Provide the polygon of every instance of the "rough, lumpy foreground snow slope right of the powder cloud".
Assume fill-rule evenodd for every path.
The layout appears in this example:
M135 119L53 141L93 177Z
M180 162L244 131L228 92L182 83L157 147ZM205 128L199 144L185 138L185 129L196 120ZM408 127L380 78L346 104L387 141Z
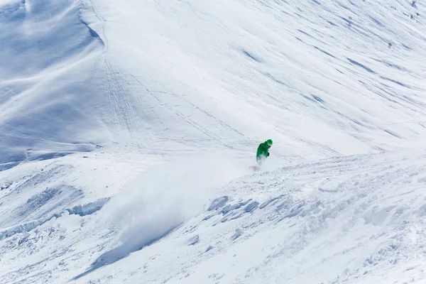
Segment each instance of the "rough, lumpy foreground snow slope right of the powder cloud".
M111 261L104 253L92 264L101 267L81 280L424 283L425 182L426 155L406 153L245 176L217 190L221 197L204 213L123 263L104 266ZM158 229L174 217L161 212L150 221ZM151 229L143 224L142 231ZM126 241L145 244L141 235Z

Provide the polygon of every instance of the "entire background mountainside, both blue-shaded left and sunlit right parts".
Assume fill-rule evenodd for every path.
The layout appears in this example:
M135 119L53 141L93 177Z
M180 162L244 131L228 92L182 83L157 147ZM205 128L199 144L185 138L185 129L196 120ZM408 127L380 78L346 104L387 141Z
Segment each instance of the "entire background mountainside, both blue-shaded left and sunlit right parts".
M274 138L276 157L313 158L425 135L422 4L1 3L1 168L97 145L241 158Z

